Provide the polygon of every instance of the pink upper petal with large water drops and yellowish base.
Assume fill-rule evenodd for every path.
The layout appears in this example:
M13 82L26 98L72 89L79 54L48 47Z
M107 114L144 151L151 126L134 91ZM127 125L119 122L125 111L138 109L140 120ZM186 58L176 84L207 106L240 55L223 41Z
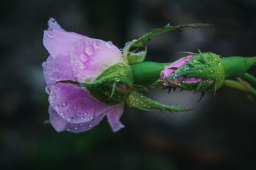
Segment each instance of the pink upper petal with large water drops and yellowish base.
M70 66L79 82L92 82L108 67L124 62L120 50L111 41L83 38L70 44Z

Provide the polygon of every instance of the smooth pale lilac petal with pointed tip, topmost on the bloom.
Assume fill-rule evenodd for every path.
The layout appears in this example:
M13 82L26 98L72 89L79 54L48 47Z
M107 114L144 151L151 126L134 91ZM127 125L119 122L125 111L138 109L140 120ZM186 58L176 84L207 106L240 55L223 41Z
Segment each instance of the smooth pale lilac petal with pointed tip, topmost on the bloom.
M48 25L48 29L44 31L43 43L53 58L58 54L68 55L70 53L70 42L86 38L86 36L75 32L67 32L61 29L54 18L48 21Z

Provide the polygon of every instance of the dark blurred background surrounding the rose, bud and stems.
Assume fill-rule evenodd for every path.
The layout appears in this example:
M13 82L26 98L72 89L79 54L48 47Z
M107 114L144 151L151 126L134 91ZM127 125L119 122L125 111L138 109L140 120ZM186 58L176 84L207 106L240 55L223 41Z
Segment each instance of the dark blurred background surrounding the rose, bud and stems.
M256 169L256 106L222 87L213 96L189 91L147 96L195 108L186 113L125 108L125 129L106 118L81 134L50 124L42 62L49 17L67 31L111 40L123 48L153 28L191 22L214 26L171 31L147 41L147 60L172 62L177 52L256 55L256 1L1 1L0 169ZM250 69L256 76L256 69Z

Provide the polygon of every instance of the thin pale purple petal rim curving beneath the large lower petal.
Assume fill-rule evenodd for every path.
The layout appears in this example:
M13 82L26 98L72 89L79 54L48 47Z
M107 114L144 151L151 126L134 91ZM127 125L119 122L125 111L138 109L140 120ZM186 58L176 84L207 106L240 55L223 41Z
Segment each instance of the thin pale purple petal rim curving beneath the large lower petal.
M54 127L57 132L70 131L75 133L89 131L90 129L95 127L95 125L99 124L102 118L104 118L104 116L106 115L106 113L101 113L98 117L95 117L90 122L73 124L60 117L58 113L52 109L51 105L49 106L49 114L52 127Z

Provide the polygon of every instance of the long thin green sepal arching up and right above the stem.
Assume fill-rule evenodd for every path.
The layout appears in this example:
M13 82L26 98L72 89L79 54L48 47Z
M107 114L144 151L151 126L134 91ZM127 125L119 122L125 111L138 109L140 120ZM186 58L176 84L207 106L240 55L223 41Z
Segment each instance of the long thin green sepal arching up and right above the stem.
M135 62L142 62L145 59L145 56L141 55L136 55L134 58L136 59L131 59L131 54L135 53L139 47L143 46L143 41L146 41L148 39L152 39L154 36L157 36L159 34L163 34L164 32L172 31L174 29L181 30L184 27L191 27L191 28L198 28L198 27L205 27L205 26L210 26L212 24L202 24L202 23L194 23L194 24L184 24L184 25L177 25L177 26L171 26L170 24L167 24L166 26L162 28L157 28L153 29L150 32L146 32L143 34L141 38L134 39L132 41L129 41L125 44L124 50L123 50L123 58L125 62L132 64ZM135 48L135 50L130 51L130 48ZM145 50L147 51L147 49ZM145 53L146 55L146 53ZM131 62L130 62L131 61Z

